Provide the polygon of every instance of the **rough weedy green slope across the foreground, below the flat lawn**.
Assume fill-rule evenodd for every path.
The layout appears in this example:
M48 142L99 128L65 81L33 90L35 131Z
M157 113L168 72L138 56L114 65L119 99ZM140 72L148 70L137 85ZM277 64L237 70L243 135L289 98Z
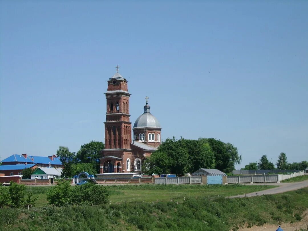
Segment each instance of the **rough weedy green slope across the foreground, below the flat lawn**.
M149 191L139 191L142 190ZM155 189L150 190L155 192ZM3 208L0 209L0 231L230 231L266 223L293 223L298 220L295 214L301 214L307 207L308 188L234 199L199 196L189 197L185 201L178 198L172 201L132 201L100 206L46 206L30 208L29 211Z

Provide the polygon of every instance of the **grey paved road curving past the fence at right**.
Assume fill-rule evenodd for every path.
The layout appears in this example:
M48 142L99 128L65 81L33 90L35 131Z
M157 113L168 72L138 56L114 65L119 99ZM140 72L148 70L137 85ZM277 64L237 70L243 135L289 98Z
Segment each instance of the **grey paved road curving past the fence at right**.
M276 193L294 191L300 188L308 187L308 180L301 181L301 182L295 182L295 183L273 183L273 184L254 184L254 185L279 185L279 187L270 188L270 189L266 189L266 190L258 191L258 192L251 192L251 193L247 193L243 195L229 196L228 198L245 197L245 196L250 197L250 196L256 196L256 195L261 196L264 194L276 194Z

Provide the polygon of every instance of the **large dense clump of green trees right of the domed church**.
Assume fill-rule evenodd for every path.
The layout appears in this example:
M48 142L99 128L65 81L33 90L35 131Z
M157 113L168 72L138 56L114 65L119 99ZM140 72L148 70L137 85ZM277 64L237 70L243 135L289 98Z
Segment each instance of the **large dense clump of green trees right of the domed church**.
M167 138L152 155L144 161L143 171L147 174L172 173L184 175L200 168L217 168L221 171L234 170L241 162L237 148L231 143L215 139L190 140Z

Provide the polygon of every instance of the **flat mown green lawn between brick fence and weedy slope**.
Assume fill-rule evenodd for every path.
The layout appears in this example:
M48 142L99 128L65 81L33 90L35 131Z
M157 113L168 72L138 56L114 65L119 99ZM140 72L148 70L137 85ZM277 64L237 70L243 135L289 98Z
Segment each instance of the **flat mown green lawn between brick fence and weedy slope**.
M46 192L52 186L26 186L26 192L32 192L38 197L36 206L48 204ZM78 187L78 186L74 186ZM110 192L109 200L112 203L125 201L170 201L170 199L184 199L200 196L235 196L249 192L261 191L276 186L269 185L112 185L103 186Z

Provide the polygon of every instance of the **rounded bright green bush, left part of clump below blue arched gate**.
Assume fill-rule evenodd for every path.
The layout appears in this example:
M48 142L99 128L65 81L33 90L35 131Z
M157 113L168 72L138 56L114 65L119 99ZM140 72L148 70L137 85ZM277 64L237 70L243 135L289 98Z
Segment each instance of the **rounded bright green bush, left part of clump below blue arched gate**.
M54 187L46 193L49 204L68 205L71 204L72 187L68 180L58 180Z

